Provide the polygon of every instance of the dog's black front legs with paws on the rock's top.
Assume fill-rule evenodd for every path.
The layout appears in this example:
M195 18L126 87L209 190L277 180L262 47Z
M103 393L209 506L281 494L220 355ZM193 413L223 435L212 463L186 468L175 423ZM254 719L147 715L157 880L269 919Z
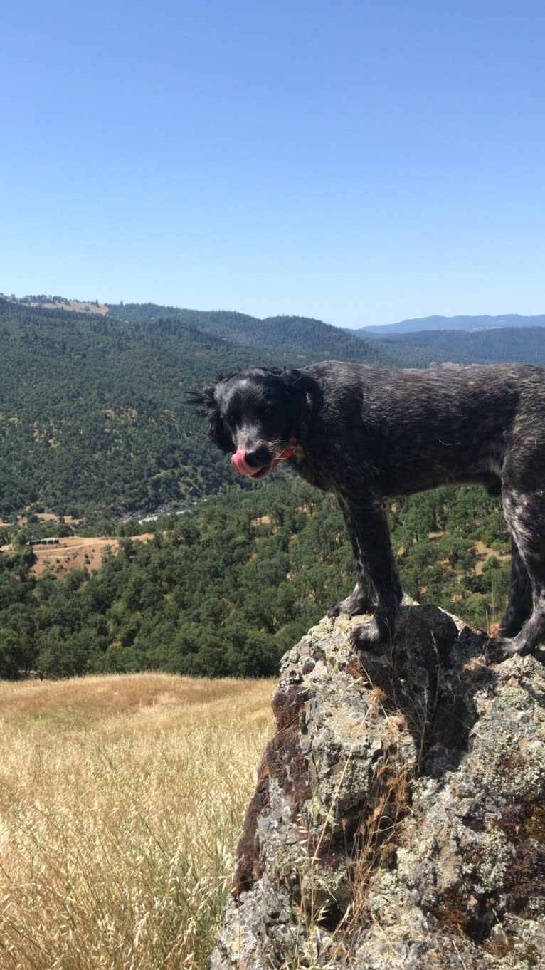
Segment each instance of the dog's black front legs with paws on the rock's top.
M374 617L353 630L352 639L362 648L389 643L400 615L402 593L383 503L373 496L358 500L343 497L338 503L350 535L358 582L347 599L332 607L330 616L368 612L369 590L374 587Z

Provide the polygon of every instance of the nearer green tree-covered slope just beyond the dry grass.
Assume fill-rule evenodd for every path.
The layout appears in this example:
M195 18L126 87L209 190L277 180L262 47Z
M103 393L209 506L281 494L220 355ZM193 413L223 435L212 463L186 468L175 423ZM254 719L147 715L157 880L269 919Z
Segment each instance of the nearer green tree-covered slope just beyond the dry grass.
M390 503L390 522L406 593L485 627L498 619L509 575L498 500L443 488ZM120 538L90 574L57 578L52 557L37 579L27 545L0 554L0 677L31 668L273 674L354 585L337 503L291 469L155 528L148 542Z

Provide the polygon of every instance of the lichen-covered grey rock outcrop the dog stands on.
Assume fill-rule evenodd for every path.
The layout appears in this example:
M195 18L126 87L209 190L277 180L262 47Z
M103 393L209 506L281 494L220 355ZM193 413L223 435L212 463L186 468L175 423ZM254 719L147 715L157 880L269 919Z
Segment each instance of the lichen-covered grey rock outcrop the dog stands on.
M213 970L545 968L545 651L401 612L392 651L339 617L283 658Z

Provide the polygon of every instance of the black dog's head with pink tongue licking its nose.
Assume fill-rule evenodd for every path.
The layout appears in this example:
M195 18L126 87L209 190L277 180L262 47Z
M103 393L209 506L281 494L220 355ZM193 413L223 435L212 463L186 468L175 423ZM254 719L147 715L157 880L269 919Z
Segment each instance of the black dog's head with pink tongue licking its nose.
M189 404L209 423L208 438L233 452L233 466L265 478L290 444L299 443L311 407L314 381L303 371L249 368L219 376Z

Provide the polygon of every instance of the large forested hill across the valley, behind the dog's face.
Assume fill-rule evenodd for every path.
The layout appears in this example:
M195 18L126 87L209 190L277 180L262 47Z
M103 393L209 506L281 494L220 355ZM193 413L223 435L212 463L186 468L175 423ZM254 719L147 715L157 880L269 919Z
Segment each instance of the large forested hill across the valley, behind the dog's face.
M324 341L312 349L313 328L303 329L297 353L287 337L258 351L225 339L221 319L241 314L192 314L191 321L182 319L187 311L169 316L168 308L153 308L164 315L123 307L121 320L0 300L0 515L38 502L61 514L116 521L202 498L236 476L205 444L203 423L185 405L189 390L256 362L364 361L369 346L373 361L390 360L380 347L340 331L337 346L332 339L330 350ZM197 326L205 317L206 333ZM252 318L243 319L251 335ZM296 324L290 326L295 340Z

